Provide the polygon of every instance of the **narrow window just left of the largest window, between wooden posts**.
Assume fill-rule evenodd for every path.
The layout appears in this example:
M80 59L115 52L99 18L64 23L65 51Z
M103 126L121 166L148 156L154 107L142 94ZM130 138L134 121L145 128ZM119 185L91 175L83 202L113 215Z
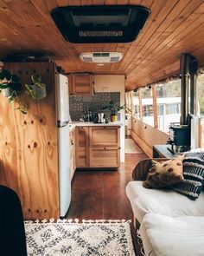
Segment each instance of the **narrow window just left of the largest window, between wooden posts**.
M143 110L143 122L154 126L154 110L153 110L153 98L152 89L142 90L142 110Z

